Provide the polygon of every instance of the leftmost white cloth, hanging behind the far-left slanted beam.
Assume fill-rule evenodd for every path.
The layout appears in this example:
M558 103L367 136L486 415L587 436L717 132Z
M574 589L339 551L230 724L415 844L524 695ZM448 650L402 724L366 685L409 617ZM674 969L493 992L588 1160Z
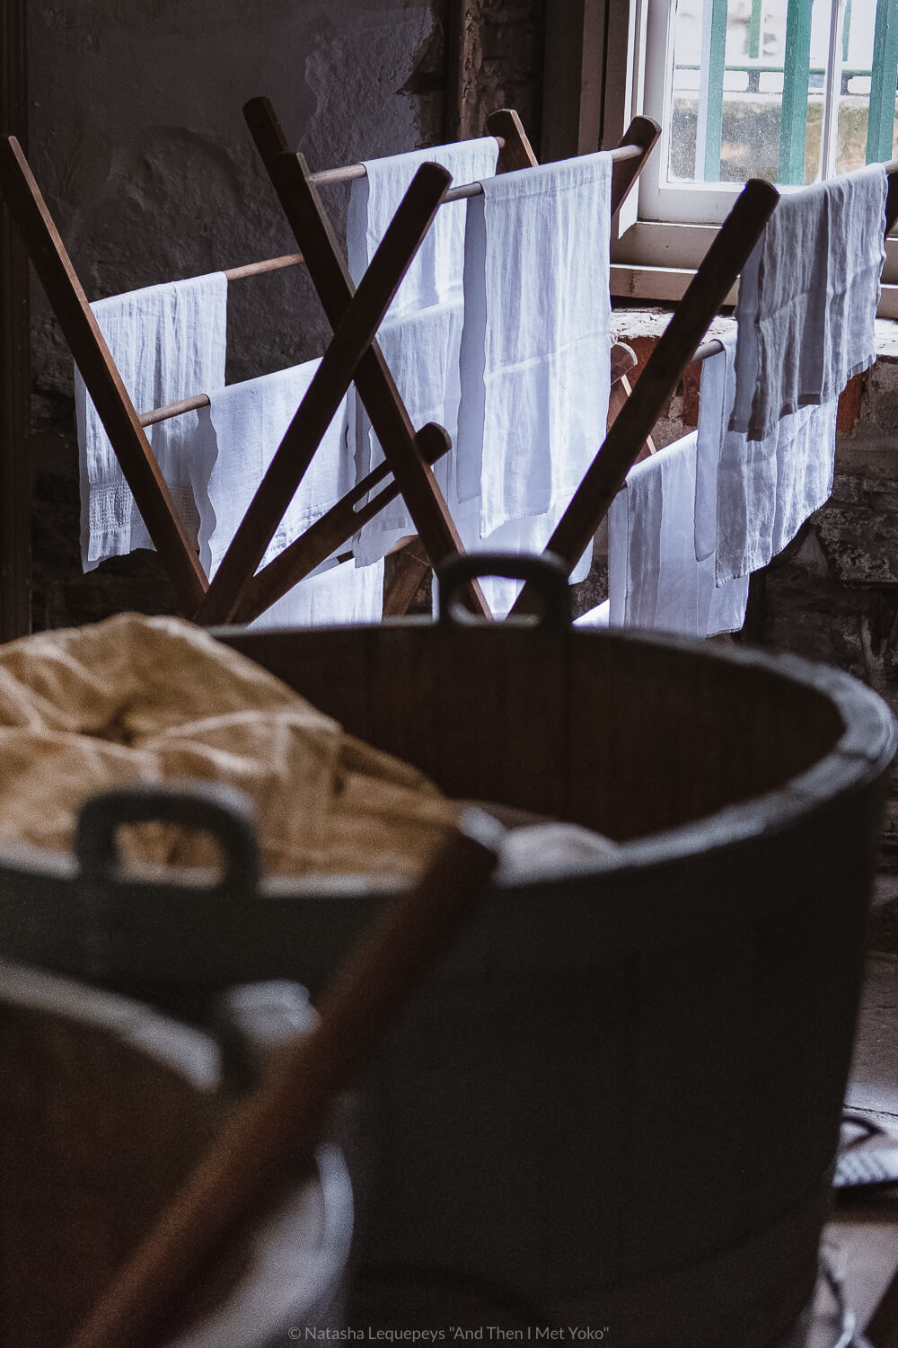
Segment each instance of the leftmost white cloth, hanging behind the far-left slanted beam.
M149 286L90 306L139 412L225 383L228 282L223 272ZM106 557L152 547L97 411L75 371L85 572ZM147 427L147 437L188 532L195 534L209 465L194 452L197 412Z

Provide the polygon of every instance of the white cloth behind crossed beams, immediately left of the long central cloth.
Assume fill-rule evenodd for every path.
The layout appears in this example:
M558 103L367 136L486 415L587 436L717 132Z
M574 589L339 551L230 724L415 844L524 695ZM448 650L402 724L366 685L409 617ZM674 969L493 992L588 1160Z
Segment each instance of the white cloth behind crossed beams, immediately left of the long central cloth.
M358 284L417 168L439 163L456 183L481 182L495 174L495 137L466 140L432 150L366 160L366 177L353 182L346 243L349 270ZM412 425L435 421L456 439L458 360L463 324L464 201L440 206L412 266L390 305L377 340L396 380ZM358 477L382 460L368 414L357 395L350 403L350 443ZM451 504L455 499L455 449L435 468ZM399 497L359 531L358 565L384 554L415 524Z

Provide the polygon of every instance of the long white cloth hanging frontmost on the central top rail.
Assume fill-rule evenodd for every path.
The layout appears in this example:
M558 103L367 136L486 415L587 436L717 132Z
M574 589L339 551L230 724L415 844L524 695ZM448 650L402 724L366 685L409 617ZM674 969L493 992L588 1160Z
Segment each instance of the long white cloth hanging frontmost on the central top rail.
M456 522L469 549L541 551L609 408L611 159L499 174L467 202ZM590 568L591 549L572 580ZM520 585L490 581L497 616Z

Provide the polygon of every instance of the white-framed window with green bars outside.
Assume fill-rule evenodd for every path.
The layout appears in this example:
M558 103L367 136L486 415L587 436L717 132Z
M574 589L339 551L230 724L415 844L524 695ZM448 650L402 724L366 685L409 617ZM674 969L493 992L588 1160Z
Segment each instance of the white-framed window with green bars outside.
M658 267L697 266L749 177L788 190L893 158L898 0L634 0L630 19L630 106L662 137L615 245L621 293L681 293Z

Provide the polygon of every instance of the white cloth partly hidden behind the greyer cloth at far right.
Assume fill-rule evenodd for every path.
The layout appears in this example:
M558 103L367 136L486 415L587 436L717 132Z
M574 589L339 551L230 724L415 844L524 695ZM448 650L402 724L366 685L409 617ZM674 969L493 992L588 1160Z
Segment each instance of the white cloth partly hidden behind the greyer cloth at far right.
M780 209L780 208L777 208ZM701 369L695 555L716 584L766 566L832 491L837 394L782 417L763 439L727 430L738 387L740 334Z

